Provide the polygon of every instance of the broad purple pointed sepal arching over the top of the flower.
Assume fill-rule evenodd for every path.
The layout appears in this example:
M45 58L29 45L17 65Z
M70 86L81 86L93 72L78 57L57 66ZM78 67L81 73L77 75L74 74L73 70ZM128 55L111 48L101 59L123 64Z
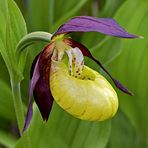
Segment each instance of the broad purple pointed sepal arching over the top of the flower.
M138 37L126 32L112 18L95 18L91 16L77 16L70 19L58 28L53 37L59 34L66 34L71 32L99 32L105 35L121 38Z

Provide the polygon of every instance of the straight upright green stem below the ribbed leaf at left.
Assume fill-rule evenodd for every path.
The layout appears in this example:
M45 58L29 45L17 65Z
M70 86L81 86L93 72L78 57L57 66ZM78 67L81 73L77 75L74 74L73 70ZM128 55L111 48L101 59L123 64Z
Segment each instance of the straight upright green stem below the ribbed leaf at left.
M14 79L12 78L11 88L12 88L13 102L14 102L18 128L20 135L22 136L22 129L24 125L24 109L23 109L23 102L21 99L20 82L15 82Z

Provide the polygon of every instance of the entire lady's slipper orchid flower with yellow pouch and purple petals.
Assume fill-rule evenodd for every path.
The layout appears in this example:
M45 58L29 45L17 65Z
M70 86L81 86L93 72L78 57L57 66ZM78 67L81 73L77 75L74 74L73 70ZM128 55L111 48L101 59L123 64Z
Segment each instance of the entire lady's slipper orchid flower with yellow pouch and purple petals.
M101 74L84 65L84 56L95 61L117 88L131 95L84 45L66 37L71 32L91 31L122 38L138 37L127 33L110 18L78 16L61 25L32 64L30 100L24 130L32 117L32 94L46 121L53 100L65 111L83 120L102 121L115 115L118 109L115 90Z

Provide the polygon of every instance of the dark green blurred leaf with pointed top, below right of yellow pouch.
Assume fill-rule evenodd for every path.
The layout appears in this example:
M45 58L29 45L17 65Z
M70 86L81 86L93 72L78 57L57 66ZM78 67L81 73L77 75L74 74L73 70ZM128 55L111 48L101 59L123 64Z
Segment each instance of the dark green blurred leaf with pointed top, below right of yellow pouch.
M137 133L129 119L120 110L111 122L111 136L107 148L139 148Z

